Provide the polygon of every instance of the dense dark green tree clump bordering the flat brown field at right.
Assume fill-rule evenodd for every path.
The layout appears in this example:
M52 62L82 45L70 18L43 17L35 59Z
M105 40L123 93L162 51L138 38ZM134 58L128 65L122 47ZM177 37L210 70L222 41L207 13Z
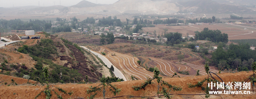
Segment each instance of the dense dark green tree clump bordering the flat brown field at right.
M212 42L228 42L228 36L226 33L221 33L220 30L209 30L209 28L204 28L203 31L195 32L195 38L199 40L206 40Z

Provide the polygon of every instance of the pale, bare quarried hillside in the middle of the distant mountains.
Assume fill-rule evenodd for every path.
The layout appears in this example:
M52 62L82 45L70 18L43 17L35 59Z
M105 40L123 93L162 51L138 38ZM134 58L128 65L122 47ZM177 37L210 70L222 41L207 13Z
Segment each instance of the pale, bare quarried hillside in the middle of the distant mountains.
M108 11L108 13L141 13L141 14L172 14L179 11L175 3L168 0L154 2L151 0L119 0L112 5L88 7L88 8L70 8L69 13L95 13Z

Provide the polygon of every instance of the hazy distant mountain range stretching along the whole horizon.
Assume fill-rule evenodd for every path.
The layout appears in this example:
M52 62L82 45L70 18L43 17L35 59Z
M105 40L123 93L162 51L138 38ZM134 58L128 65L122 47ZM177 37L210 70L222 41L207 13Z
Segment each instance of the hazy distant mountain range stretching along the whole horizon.
M243 3L245 2L246 3ZM247 7L247 3L250 6ZM241 6L237 6L244 4ZM253 12L256 0L119 0L110 5L81 1L76 5L0 8L0 14L173 14Z

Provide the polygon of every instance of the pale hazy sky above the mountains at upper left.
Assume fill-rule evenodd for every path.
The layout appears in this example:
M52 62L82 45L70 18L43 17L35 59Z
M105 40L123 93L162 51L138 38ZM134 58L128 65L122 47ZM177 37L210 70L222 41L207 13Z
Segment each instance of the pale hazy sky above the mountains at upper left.
M82 0L0 0L0 7L17 7L17 6L28 6L35 5L38 6L52 6L52 5L64 5L71 6L76 5ZM97 4L113 4L118 0L87 0L92 3Z

